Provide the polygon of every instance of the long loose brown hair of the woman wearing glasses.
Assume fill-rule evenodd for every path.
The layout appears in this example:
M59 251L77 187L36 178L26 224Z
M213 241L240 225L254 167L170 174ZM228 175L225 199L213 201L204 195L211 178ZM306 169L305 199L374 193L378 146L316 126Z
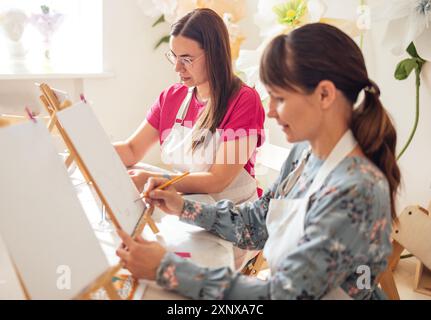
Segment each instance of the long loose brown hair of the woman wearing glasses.
M242 82L233 72L228 30L215 11L191 11L172 25L170 35L192 39L205 51L210 98L194 129L195 150L205 139L202 129L214 133L223 121L229 99L239 91Z

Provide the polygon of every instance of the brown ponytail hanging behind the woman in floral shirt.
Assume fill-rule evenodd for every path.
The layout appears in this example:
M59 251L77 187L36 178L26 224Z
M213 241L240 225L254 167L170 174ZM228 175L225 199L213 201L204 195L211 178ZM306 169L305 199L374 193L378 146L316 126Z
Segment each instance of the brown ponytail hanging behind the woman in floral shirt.
M353 110L351 129L365 155L384 173L389 183L391 215L396 220L395 196L401 173L395 157L397 133L380 101L380 89L371 80L364 89L365 98Z

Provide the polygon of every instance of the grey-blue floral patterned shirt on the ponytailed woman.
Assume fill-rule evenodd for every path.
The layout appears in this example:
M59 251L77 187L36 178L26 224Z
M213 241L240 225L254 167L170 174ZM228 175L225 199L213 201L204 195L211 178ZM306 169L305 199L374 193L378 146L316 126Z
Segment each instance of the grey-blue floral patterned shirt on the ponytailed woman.
M244 249L262 249L269 202L298 165L308 144L294 146L277 181L257 201L209 205L185 200L180 219L205 228ZM323 160L310 155L286 199L303 197ZM228 267L203 268L167 253L157 283L193 299L320 299L341 287L353 299L381 297L376 278L391 253L389 186L368 159L345 158L311 196L304 235L267 281ZM368 281L367 281L368 279Z

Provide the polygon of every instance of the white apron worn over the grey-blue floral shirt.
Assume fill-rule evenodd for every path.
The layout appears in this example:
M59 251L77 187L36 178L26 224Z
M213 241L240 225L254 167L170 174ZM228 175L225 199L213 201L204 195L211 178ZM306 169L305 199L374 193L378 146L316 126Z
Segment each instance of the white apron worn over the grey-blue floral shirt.
M276 195L278 194L277 199L271 199L269 203L266 217L268 240L263 250L272 274L276 272L283 259L297 247L298 241L304 235L305 215L310 196L321 188L328 175L352 152L356 144L352 132L346 131L320 167L304 198L281 199L292 190L301 176L310 150L304 152L298 167L280 184L276 193ZM322 299L346 300L351 299L351 297L339 287L333 289Z

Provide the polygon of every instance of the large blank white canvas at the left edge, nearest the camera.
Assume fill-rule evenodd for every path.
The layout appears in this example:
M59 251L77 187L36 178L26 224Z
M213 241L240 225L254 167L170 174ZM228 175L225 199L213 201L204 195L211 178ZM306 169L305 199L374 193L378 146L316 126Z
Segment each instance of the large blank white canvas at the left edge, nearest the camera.
M52 137L42 123L1 128L0 149L0 234L30 297L73 298L109 265Z

